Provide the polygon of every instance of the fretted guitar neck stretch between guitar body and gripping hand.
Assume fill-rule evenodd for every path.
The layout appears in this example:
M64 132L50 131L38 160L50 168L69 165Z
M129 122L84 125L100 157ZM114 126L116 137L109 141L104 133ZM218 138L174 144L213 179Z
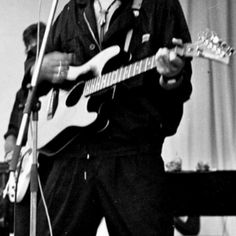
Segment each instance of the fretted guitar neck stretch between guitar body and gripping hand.
M156 66L155 55L86 81L84 95L89 96L128 80Z

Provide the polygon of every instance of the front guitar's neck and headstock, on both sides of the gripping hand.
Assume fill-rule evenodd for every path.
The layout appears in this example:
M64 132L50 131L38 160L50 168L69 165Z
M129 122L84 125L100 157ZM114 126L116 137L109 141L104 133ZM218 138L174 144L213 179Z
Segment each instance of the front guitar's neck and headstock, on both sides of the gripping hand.
M229 56L233 54L233 49L231 47L223 47L218 44L213 47L212 43L210 45L208 44L206 44L205 41L193 44L185 43L181 47L176 46L172 51L182 57L201 57L225 64L229 63ZM155 67L156 60L155 55L153 55L127 66L123 66L115 71L103 74L102 76L95 77L86 81L84 95L92 95L143 72L152 70Z

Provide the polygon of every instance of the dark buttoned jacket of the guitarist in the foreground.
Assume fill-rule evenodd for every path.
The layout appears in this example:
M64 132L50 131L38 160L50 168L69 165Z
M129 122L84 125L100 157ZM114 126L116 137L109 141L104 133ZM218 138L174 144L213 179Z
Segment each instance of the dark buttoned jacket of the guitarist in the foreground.
M172 47L173 37L191 41L178 0L143 0L138 18L131 5L132 1L123 1L99 45L93 1L70 1L51 30L47 52L73 53L73 64L82 65L104 48L123 48L130 28L134 29L130 43L132 62L154 55L160 47ZM116 66L121 66L121 61ZM183 83L173 90L159 85L160 75L155 69L117 85L114 99L104 107L110 125L99 142L109 139L126 144L155 143L173 135L182 117L183 103L192 91L190 60L186 60L182 74Z

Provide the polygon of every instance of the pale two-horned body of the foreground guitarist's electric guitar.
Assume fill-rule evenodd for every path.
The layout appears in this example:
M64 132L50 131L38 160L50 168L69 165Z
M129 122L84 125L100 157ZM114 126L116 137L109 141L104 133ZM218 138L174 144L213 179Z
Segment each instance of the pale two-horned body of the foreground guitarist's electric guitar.
M119 47L113 46L96 55L82 66L86 72L83 68L78 68L78 81L80 75L84 78L84 75L91 74L91 70L95 76L101 76L107 62L119 52ZM87 71L87 68L91 69ZM109 88L99 95L86 96L84 86L85 81L79 81L69 91L60 89L57 107L51 118L48 117L51 93L40 98L38 148L41 153L47 156L55 155L81 135L82 130L93 129L100 132L107 127L109 121L100 114L103 102L112 98L114 88Z

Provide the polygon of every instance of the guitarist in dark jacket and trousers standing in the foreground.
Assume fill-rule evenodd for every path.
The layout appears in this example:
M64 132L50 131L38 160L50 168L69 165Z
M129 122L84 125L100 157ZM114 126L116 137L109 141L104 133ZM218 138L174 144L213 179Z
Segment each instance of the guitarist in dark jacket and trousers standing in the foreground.
M118 52L111 46L118 45L130 56L112 58L102 73L150 57L136 64L136 69L116 71L119 78L112 77L120 81L123 76L144 72L106 90L111 92L111 99L105 99L100 110L109 120L104 129L97 132L93 125L74 127L60 137L66 145L53 153L53 166L44 188L56 236L95 235L103 216L111 236L173 235L161 152L165 137L176 133L183 104L192 91L191 59L179 56L172 48L182 47L191 38L178 0L143 0L135 9L132 4L133 0L70 0L50 31L38 95L48 95L52 88L59 89L59 95L68 87L75 89L61 121L67 114L74 117L69 107L76 105L80 92L74 85L91 78L88 75L98 75L99 66ZM27 68L25 83L34 71L33 58L28 60ZM111 80L103 82L105 86ZM101 87L94 83L87 89ZM98 92L90 97L96 103L102 95ZM55 104L63 106L60 98ZM88 104L88 109L93 105ZM75 120L86 117L83 112L79 111ZM58 113L54 115L52 119ZM73 138L71 133L75 133ZM47 135L45 131L43 136ZM49 235L42 201L37 219L37 236Z

